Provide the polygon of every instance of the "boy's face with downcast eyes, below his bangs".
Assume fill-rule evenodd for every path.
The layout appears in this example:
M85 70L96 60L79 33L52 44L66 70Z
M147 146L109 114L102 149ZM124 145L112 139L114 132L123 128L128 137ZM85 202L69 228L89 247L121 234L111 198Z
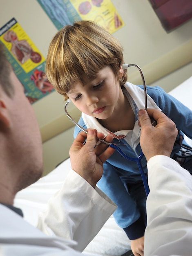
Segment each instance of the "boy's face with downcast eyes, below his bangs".
M123 76L123 69L119 69L119 78ZM83 113L107 119L114 115L123 102L124 96L119 81L112 69L107 66L101 69L94 80L86 79L85 84L77 82L74 89L67 96Z

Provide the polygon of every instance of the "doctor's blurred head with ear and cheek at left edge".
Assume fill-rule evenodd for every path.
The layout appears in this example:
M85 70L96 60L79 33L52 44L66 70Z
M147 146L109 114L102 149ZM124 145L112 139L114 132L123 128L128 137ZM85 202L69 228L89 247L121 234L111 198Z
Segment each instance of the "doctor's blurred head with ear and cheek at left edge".
M42 175L42 141L33 108L0 44L0 202ZM9 193L6 193L9 191ZM12 200L12 201L11 201Z

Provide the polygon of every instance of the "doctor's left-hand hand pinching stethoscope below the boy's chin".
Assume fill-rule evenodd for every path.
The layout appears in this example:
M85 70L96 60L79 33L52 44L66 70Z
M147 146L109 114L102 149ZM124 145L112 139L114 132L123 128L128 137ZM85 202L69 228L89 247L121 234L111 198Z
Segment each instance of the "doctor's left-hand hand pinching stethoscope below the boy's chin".
M94 129L88 129L88 134L80 132L75 138L70 150L71 168L83 177L92 187L103 174L103 163L114 153L114 149L104 143L99 143L97 138L103 139L104 134ZM86 143L84 144L86 140ZM113 137L107 135L105 140L111 142Z

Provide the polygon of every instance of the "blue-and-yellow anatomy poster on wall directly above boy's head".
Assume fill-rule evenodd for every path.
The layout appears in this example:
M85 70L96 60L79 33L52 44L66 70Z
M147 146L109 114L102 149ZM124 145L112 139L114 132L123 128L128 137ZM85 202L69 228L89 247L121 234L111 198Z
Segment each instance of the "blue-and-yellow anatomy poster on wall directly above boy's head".
M93 20L109 33L125 24L110 0L37 0L59 30L76 20Z

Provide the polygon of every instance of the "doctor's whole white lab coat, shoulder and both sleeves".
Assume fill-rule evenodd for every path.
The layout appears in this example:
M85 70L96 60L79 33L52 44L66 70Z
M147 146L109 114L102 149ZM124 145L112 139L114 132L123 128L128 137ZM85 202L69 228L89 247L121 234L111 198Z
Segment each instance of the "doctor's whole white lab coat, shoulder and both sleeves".
M150 194L144 256L192 256L192 176L162 155L152 157L147 167ZM38 226L53 236L0 205L0 256L80 256L72 248L82 251L116 209L74 171L48 205Z

